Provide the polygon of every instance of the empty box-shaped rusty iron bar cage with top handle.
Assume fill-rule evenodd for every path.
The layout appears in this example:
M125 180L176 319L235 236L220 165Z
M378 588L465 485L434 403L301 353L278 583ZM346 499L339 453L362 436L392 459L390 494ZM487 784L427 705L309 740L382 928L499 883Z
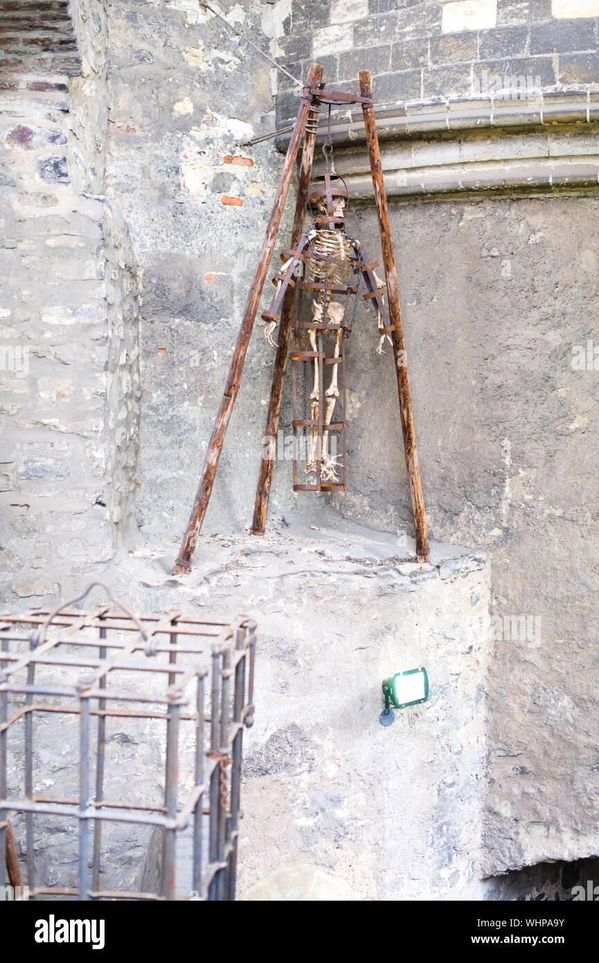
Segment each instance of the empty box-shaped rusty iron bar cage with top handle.
M255 624L135 616L102 587L113 608L74 609L87 589L55 612L1 616L0 885L20 883L20 848L32 899L234 899ZM44 740L64 741L58 794ZM136 767L142 783L160 780L151 794ZM73 827L72 879L37 865L39 823L47 836L57 819ZM111 885L105 851L123 845L144 853L129 889Z

